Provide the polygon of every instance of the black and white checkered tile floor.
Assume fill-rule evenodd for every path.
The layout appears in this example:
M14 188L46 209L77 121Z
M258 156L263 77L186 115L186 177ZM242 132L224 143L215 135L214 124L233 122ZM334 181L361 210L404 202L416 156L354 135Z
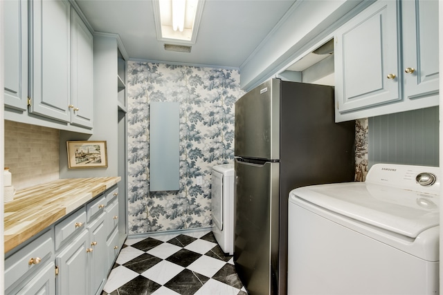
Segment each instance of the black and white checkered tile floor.
M246 295L212 231L128 239L102 295Z

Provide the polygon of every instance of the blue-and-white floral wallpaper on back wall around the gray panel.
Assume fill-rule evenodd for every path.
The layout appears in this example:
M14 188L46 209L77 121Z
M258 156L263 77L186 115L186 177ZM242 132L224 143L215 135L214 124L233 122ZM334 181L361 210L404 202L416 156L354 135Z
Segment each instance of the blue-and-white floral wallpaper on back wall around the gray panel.
M234 160L239 78L238 70L127 63L129 234L212 225L210 173ZM150 191L150 102L180 104L179 191Z

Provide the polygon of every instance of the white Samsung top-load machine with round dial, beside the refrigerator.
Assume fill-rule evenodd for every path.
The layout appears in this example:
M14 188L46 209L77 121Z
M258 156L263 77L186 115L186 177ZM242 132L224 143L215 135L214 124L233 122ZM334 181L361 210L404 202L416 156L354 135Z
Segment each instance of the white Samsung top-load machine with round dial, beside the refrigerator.
M365 182L291 191L288 294L438 294L439 178L376 164Z

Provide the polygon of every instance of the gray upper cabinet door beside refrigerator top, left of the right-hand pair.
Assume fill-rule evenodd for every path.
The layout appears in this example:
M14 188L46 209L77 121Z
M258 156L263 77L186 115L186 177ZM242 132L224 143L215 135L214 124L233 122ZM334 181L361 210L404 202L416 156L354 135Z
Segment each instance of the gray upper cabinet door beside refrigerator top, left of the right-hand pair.
M397 1L377 1L363 10L338 30L335 43L338 113L401 99Z

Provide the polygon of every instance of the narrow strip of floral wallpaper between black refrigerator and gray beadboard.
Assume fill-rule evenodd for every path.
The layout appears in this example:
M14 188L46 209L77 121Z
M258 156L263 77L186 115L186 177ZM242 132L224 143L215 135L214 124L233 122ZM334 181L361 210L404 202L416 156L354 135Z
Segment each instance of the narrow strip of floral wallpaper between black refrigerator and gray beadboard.
M368 118L355 122L355 181L368 174Z

